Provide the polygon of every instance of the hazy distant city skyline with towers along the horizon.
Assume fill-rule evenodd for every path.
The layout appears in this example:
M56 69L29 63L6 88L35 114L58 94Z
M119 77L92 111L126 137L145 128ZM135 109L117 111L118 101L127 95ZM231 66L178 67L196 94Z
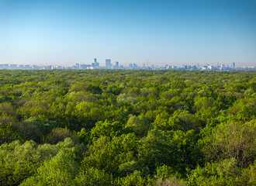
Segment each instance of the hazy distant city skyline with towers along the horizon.
M55 69L77 69L77 70L92 70L92 69L113 69L113 70L187 70L187 71L255 71L255 66L244 66L238 67L235 63L230 65L225 64L197 64L197 65L185 65L181 67L168 65L165 66L156 66L144 64L139 66L137 64L129 64L129 66L120 65L118 61L114 64L111 63L110 59L106 59L106 66L99 66L99 62L95 58L92 64L74 64L71 66L61 66L61 65L30 65L30 64L0 64L0 69L9 69L9 70L55 70Z

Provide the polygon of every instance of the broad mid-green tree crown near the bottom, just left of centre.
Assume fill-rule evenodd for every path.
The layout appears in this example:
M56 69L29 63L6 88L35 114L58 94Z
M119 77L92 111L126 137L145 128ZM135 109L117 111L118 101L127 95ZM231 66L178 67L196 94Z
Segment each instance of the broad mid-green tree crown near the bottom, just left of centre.
M134 134L114 136L112 139L101 136L88 146L82 167L84 169L95 167L109 171L109 173L116 173L119 164L135 158L136 148L137 140Z

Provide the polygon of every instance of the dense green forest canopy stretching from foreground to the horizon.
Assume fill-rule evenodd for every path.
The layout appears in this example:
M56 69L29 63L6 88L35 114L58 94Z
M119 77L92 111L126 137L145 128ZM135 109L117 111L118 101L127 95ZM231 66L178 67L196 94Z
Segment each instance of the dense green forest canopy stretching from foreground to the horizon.
M0 185L256 185L256 72L0 71Z

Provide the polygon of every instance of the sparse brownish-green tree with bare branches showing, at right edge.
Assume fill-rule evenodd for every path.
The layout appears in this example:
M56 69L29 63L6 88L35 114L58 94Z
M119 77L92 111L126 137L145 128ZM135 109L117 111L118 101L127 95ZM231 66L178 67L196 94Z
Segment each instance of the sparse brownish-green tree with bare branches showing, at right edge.
M256 156L255 120L251 122L220 123L210 136L210 143L202 148L209 160L236 158L238 164L248 165Z

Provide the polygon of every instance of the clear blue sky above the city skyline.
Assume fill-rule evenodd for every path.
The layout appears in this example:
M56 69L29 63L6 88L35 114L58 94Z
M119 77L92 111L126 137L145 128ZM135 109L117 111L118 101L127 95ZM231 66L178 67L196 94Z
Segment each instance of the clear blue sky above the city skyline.
M0 64L256 65L256 0L0 0Z

